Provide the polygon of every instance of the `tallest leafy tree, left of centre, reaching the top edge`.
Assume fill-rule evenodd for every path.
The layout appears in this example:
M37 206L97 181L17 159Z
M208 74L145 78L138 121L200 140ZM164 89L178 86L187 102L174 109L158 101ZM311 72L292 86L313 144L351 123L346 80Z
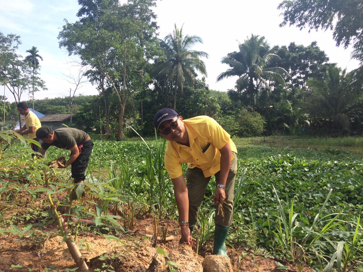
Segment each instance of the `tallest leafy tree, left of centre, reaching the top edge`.
M106 128L109 136L109 102L107 88L115 92L119 102L118 136L122 136L122 122L126 102L135 84L147 85L143 78L144 66L156 48L156 18L150 7L155 0L118 1L80 0L79 21L66 21L58 35L60 47L78 55L92 83L102 91L106 109ZM140 85L137 88L141 88Z

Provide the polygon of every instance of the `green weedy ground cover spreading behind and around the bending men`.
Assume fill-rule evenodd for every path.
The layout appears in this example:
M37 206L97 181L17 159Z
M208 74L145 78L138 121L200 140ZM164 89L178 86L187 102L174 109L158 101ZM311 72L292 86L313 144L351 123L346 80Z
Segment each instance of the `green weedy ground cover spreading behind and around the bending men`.
M90 188L92 197L72 207L69 213L78 220L91 218L95 224L81 227L71 223L73 229L104 235L107 229L132 228L133 220L146 211L159 219L178 220L172 184L163 166L164 148L165 141L159 138L146 144L95 140L83 187ZM16 192L28 193L34 199L45 190L43 161L31 159L24 150L28 150L24 144L15 144L2 154L0 217L16 218L21 214L16 213L14 203L7 202L19 201ZM61 154L69 156L61 149L51 147L49 151L52 158L45 158L45 162ZM9 164L16 169L11 174ZM24 165L25 170L20 170ZM65 192L59 191L62 188L69 189L70 178L63 169L54 174L62 180L49 183L54 186L50 194L56 197L56 192ZM349 151L238 146L233 225L227 244L295 263L305 262L316 271L362 269L362 180L362 158ZM212 178L194 231L203 250L211 248L214 191ZM46 228L52 224L49 222L54 211L48 217L42 216L37 224ZM29 224L24 226L19 220L12 220L12 224L0 222L3 230L32 231Z

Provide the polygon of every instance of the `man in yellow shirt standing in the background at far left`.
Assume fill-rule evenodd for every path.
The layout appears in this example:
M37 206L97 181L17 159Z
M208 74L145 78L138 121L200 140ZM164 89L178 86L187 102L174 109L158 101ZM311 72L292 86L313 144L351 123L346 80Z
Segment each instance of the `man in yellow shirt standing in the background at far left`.
M17 104L18 111L21 115L24 115L25 124L22 128L17 129L15 132L19 133L20 135L29 135L30 139L36 140L40 143L40 140L36 136L37 129L41 127L40 121L38 116L34 114L34 112L30 111L28 105L24 102L20 102ZM34 152L39 151L39 147L33 143L30 143ZM34 154L32 154L34 157Z

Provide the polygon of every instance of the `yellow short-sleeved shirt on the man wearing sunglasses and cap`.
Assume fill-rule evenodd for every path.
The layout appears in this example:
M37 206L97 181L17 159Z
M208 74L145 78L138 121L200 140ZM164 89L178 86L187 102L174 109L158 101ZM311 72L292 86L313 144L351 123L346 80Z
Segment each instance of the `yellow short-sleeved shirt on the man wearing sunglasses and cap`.
M231 136L208 116L196 116L183 120L188 132L189 145L181 145L174 141L168 141L164 164L170 178L177 178L183 174L181 163L187 162L188 168L198 167L203 170L205 177L210 177L220 170L221 153L218 149L224 147L227 142L233 152L237 153L236 145ZM211 145L203 153L202 150L208 143ZM233 160L233 156L231 158Z

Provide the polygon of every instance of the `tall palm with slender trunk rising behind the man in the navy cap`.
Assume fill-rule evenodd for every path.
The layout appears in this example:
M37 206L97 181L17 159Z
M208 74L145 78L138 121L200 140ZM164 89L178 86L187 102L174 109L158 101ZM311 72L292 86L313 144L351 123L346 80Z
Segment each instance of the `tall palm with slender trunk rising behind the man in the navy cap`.
M165 60L155 63L152 74L167 77L174 84L174 110L176 107L176 94L178 86L183 93L183 86L187 83L193 86L196 80L194 69L202 75L207 75L205 63L200 57L208 58L203 51L192 50L192 46L203 43L199 36L183 35L183 26L179 29L174 24L173 33L169 33L164 39L159 39L160 48L165 54Z

